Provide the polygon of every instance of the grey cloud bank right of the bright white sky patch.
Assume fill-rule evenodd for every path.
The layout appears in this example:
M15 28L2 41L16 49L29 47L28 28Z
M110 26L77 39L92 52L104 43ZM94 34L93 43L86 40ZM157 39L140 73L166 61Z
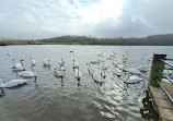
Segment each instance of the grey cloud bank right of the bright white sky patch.
M100 22L94 35L106 37L134 37L173 33L171 0L128 0L116 20Z

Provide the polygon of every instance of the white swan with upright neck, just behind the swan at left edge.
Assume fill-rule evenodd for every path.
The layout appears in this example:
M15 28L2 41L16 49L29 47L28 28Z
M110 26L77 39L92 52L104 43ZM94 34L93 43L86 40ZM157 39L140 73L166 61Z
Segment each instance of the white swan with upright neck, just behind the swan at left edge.
M31 70L32 71L18 72L18 74L21 75L22 77L36 77L36 74L34 72L33 65L31 65Z

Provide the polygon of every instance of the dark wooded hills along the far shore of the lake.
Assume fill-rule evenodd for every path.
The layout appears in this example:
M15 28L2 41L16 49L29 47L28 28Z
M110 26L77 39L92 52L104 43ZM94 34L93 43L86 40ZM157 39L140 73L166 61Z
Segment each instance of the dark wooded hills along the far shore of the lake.
M96 38L91 36L60 36L44 38L38 40L0 40L0 46L5 45L117 45L117 46L173 46L173 34L152 35L147 37L117 37L117 38Z

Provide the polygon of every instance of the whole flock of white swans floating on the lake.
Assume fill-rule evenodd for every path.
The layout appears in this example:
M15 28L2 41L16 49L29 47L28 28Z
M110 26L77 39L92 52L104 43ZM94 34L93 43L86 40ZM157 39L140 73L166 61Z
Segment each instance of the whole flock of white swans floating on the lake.
M70 51L73 52L73 51ZM11 52L8 51L8 56L11 56ZM103 57L103 52L97 55L99 57ZM95 83L104 83L104 78L106 77L106 71L111 70L112 72L112 78L114 76L122 77L123 82L126 84L136 84L142 81L142 77L140 75L142 73L146 73L148 71L147 66L139 66L138 69L132 69L132 68L127 68L127 57L123 56L122 62L115 62L114 59L116 57L116 52L113 52L107 60L111 60L108 63L102 60L94 60L88 62L88 72L89 74L93 77ZM20 63L15 63L15 60L13 59L13 65L12 65L12 71L16 72L19 75L21 75L24 80L12 80L8 81L7 83L3 84L2 80L0 78L0 87L13 87L13 86L19 86L22 84L25 84L27 82L26 78L30 77L36 77L36 73L34 71L34 66L36 65L36 61L31 58L31 71L27 71L24 69L23 61L21 60ZM43 60L43 65L44 66L50 66L53 63L49 59L44 59ZM77 80L80 80L82 77L82 72L80 71L80 64L73 59L72 62L72 68L73 68L73 74ZM54 68L53 74L56 77L61 77L64 78L66 74L66 66L65 66L65 60L61 59L58 62L58 65Z

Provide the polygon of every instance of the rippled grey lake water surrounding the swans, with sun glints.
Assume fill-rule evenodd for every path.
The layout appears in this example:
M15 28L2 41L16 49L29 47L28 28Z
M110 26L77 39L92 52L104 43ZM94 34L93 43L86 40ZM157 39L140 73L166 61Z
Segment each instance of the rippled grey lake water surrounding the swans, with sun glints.
M70 52L73 50L74 52ZM128 58L129 68L148 66L153 53L166 53L173 47L122 47L122 46L5 46L0 47L0 78L3 83L21 78L11 71L12 58L24 59L30 70L30 57L37 61L34 68L36 81L30 78L26 85L0 90L0 121L146 121L141 118L143 90L147 89L149 71L139 84L128 85L122 78L112 77L112 66L106 71L104 84L95 84L88 73L86 63L92 60L112 62L107 57L116 50L115 61L123 55ZM8 56L7 52L12 55ZM97 53L103 52L103 57ZM43 66L43 59L53 62L51 68ZM61 81L53 75L59 60L66 61L66 76ZM73 76L72 59L80 63L83 74L80 81ZM79 86L81 85L81 86Z

